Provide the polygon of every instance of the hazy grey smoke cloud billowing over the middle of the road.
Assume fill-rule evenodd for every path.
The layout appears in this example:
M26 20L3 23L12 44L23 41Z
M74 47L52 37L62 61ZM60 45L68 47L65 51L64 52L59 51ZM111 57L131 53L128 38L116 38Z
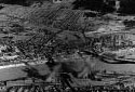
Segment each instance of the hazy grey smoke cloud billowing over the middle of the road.
M89 78L94 66L96 65L96 62L93 61L92 56L80 56L78 53L75 53L67 60L62 61L63 62L58 63L58 65L54 66L53 71L51 71L50 77L48 78L48 81L52 81L59 71L68 74L76 73L78 78Z

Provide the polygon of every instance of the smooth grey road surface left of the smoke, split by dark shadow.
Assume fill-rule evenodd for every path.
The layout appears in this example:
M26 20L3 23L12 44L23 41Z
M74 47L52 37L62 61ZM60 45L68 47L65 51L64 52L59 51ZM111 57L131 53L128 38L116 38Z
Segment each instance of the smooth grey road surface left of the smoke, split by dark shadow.
M37 68L41 75L45 75L50 71L44 64L35 65L33 67ZM27 74L23 71L24 68L25 66L0 69L0 81L27 77Z

